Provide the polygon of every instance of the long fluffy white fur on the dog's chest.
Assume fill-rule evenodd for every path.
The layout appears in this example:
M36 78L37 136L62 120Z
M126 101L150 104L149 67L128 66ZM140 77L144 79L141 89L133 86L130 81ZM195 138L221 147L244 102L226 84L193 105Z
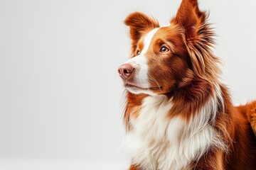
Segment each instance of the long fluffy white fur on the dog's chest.
M188 164L199 159L211 145L222 147L219 135L208 125L213 116L210 112L216 112L215 101L216 98L209 100L186 123L178 116L166 118L172 106L166 96L145 98L139 117L131 120L133 129L123 142L132 164L146 170L188 169Z

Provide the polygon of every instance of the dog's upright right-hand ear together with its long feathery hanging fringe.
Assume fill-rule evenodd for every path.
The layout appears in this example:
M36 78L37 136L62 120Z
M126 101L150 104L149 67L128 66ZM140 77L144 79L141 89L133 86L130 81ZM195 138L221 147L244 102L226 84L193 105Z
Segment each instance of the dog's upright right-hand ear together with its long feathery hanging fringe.
M181 26L194 73L198 77L216 79L220 73L218 57L213 55L213 29L208 23L206 12L200 11L197 0L182 0L171 24Z

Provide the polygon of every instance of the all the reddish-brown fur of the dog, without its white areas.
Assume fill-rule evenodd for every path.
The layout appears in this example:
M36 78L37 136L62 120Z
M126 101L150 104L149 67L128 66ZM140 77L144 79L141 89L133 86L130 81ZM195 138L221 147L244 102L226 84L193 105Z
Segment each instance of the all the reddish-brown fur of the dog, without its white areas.
M210 50L213 47L213 30L207 21L208 15L200 11L196 0L183 0L171 26L160 28L151 40L146 58L149 78L156 94L172 98L173 106L168 119L180 116L186 120L196 114L215 93L218 84L223 102L218 103L214 123L209 123L220 132L228 150L212 147L199 161L191 162L191 169L256 169L256 101L235 107L228 89L220 84L218 77L220 60ZM130 14L125 23L130 28L132 57L143 48L146 33L159 27L159 23L143 13ZM159 52L165 45L168 52ZM157 81L155 81L157 80ZM136 119L146 94L127 93L124 124ZM220 98L218 98L220 100ZM211 113L208 113L211 114ZM253 133L255 132L255 133ZM132 165L129 170L139 170Z

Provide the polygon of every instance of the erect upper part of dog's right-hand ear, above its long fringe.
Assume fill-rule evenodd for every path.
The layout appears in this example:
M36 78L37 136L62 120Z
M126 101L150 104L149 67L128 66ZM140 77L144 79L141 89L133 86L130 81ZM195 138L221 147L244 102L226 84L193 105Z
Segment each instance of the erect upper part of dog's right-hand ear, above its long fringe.
M197 30L206 21L206 13L198 8L197 0L183 0L176 17L171 23L178 23L185 28L186 39L197 36Z

